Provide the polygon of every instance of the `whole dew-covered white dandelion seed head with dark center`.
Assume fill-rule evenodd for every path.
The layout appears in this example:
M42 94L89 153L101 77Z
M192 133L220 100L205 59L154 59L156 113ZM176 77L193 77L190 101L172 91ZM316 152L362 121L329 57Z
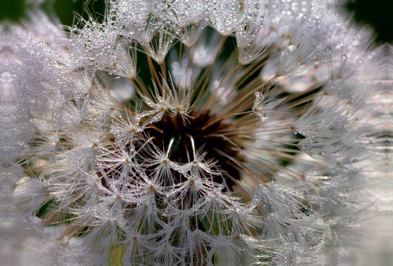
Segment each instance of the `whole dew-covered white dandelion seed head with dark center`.
M1 33L1 230L42 265L326 265L358 241L389 115L367 32L327 0L106 3L62 40Z

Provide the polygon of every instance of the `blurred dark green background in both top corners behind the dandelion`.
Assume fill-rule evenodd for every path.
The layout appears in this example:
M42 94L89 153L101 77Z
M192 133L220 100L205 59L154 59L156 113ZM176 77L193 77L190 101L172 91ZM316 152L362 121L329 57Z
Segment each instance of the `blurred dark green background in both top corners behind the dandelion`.
M28 18L28 10L40 5L47 13L55 13L63 25L72 25L73 13L84 15L84 0L0 0L0 20L20 21ZM98 17L104 14L105 0L89 0L89 10ZM345 6L360 25L373 27L377 42L393 42L393 0L352 0ZM51 16L53 17L53 16Z

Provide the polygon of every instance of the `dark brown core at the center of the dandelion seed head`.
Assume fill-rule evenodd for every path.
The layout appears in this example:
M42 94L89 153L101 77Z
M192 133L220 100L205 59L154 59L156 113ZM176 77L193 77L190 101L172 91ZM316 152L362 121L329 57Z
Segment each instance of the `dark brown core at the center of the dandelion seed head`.
M223 121L215 121L217 116L209 112L191 112L190 115L194 117L189 119L190 123L183 123L180 115L175 117L164 115L160 121L152 124L153 128L149 131L149 135L154 137L152 141L157 147L167 151L168 146L163 147L163 143L168 145L170 140L174 138L169 159L180 163L193 161L193 165L196 166L197 161L194 161L190 140L190 136L192 136L196 150L204 145L203 151L207 153L204 159L214 159L217 161L217 169L224 171L223 177L216 176L213 181L222 184L224 178L226 185L231 187L234 182L228 176L239 180L240 172L230 158L242 161L242 157L238 150L220 134L230 131L233 125Z

